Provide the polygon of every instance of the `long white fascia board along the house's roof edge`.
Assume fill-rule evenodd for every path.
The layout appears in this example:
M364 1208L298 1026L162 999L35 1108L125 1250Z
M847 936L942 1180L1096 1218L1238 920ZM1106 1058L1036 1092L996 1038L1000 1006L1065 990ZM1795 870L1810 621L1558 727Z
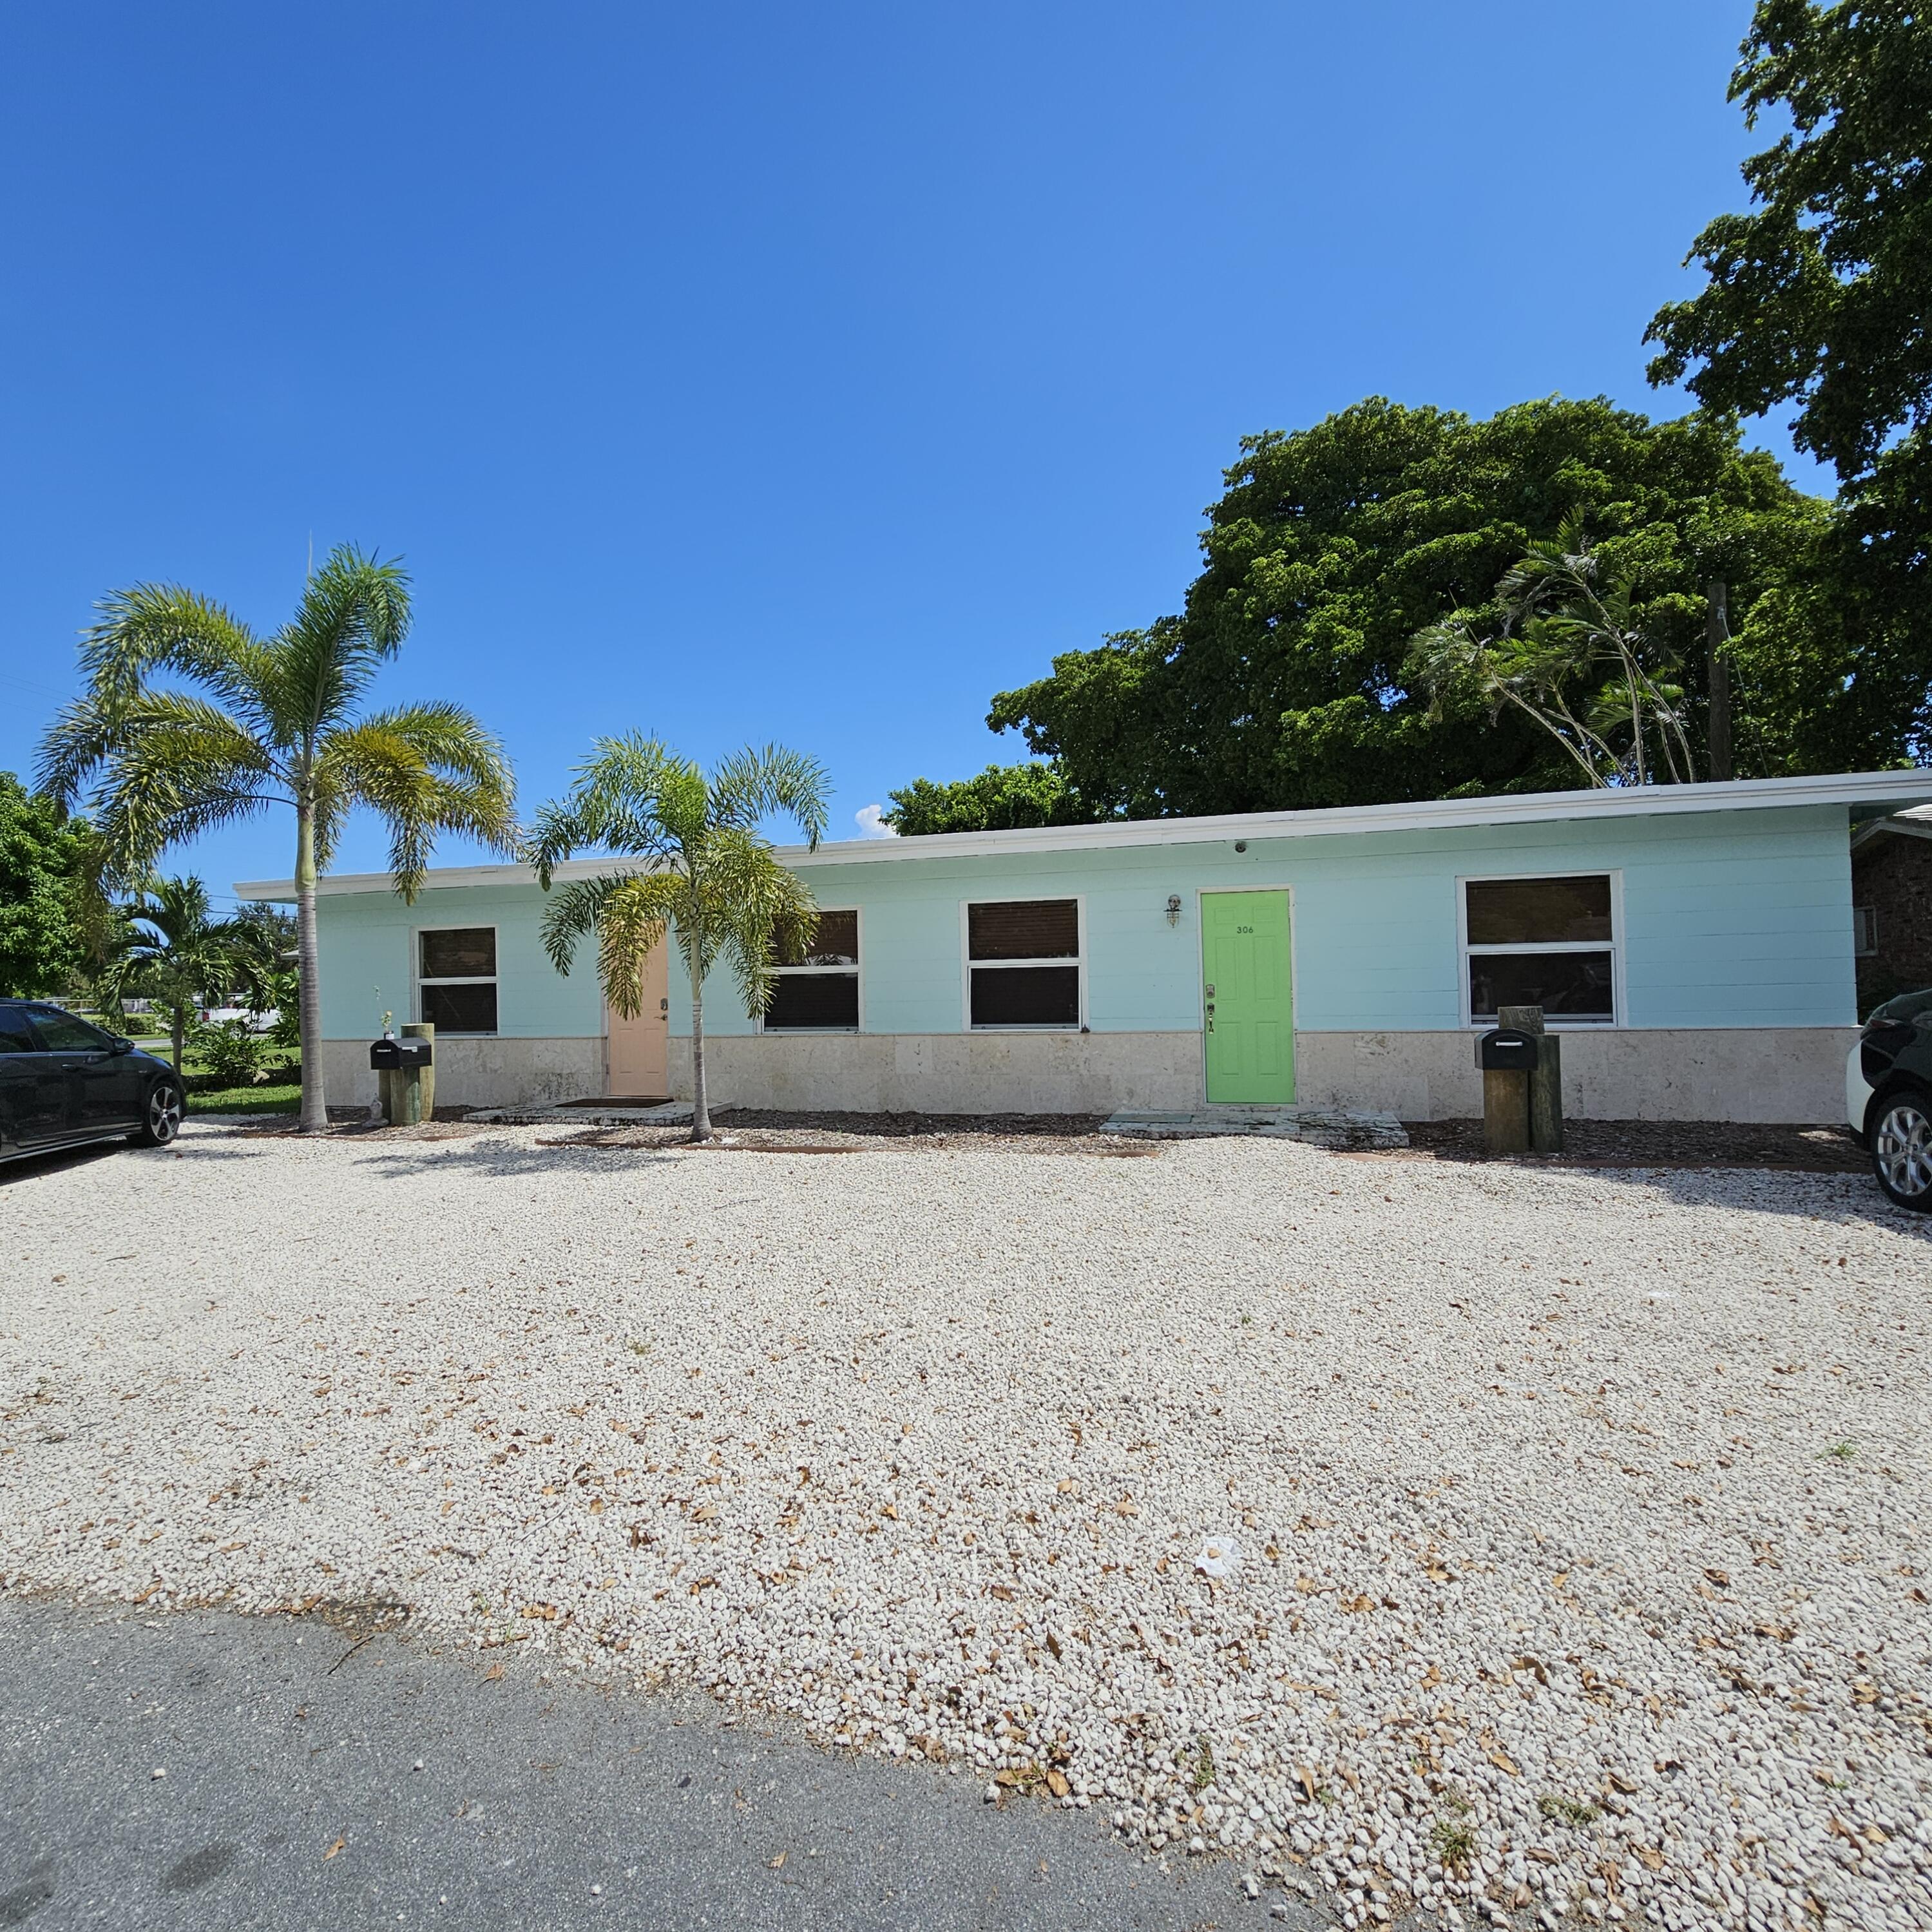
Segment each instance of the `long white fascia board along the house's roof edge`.
M1320 811L1238 811L1204 819L1109 819L1101 825L1036 825L1010 833L929 833L920 838L842 838L779 846L792 867L879 866L908 858L1003 858L1020 852L1107 852L1119 846L1225 844L1233 838L1333 838L1352 833L1453 831L1472 825L1538 825L1557 819L1654 819L1698 811L1766 811L1795 806L1889 808L1932 802L1932 771L1843 771L1818 779L1731 779L1718 784L1631 784L1501 798L1428 798L1405 806L1331 806ZM556 879L611 871L612 860L572 860ZM527 866L452 866L431 871L423 891L533 885ZM390 891L386 871L336 873L319 893ZM286 879L236 885L240 898L294 898Z

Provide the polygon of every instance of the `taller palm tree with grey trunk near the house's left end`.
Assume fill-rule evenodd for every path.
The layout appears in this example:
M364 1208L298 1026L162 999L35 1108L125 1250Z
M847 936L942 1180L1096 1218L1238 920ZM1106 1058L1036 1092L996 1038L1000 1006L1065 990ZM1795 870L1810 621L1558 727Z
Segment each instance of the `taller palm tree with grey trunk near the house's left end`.
M189 589L143 583L100 607L81 645L87 692L41 748L56 798L93 786L95 823L129 877L178 840L294 808L303 1132L328 1124L315 881L350 808L386 823L404 900L421 889L437 833L516 844L508 761L468 711L415 703L355 717L408 630L408 576L352 545L330 553L270 638Z

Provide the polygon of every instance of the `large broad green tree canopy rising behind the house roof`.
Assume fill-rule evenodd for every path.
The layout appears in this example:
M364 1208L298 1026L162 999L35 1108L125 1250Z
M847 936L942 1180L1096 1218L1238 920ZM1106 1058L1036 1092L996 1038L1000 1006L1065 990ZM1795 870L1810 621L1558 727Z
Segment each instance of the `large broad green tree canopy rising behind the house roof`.
M1830 506L1743 448L1729 417L1658 423L1549 398L1474 419L1378 396L1244 439L1225 481L1179 616L1066 651L993 699L987 723L1020 732L1061 790L997 767L920 781L893 794L900 831L914 829L904 808L918 829L964 829L1032 796L1080 817L1159 817L1577 784L1534 721L1492 719L1476 694L1445 701L1410 668L1410 641L1451 612L1499 624L1497 585L1567 520L1683 665L1700 761L1714 580L1735 630L1739 775L1897 763L1926 730L1924 678L1861 663L1822 597Z

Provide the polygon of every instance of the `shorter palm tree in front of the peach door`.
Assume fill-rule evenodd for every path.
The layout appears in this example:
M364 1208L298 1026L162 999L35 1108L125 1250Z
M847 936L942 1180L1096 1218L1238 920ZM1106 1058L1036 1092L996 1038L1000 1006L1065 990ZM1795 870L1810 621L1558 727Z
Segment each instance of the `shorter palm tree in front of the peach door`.
M709 779L655 738L599 738L570 796L537 813L527 852L537 879L583 848L641 864L574 879L543 916L543 949L568 974L578 939L597 935L605 999L634 1018L643 962L674 935L692 981L692 1140L711 1138L705 1095L705 976L724 960L744 1010L771 1003L775 952L802 952L817 908L759 825L794 819L817 846L827 775L817 759L769 744L726 757Z

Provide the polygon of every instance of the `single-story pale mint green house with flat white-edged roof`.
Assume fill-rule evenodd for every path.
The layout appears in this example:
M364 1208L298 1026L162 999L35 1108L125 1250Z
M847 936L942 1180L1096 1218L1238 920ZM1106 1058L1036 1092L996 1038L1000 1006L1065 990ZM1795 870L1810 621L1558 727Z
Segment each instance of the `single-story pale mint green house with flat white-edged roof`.
M1851 827L1928 798L1851 773L782 848L817 939L765 1014L707 985L713 1105L1449 1119L1480 1111L1474 1036L1536 1003L1575 1117L1835 1119ZM543 902L520 866L413 906L325 879L330 1101L373 1095L384 1012L437 1024L439 1101L688 1095L676 954L620 1022L589 956L551 968Z

